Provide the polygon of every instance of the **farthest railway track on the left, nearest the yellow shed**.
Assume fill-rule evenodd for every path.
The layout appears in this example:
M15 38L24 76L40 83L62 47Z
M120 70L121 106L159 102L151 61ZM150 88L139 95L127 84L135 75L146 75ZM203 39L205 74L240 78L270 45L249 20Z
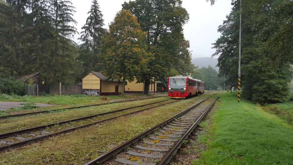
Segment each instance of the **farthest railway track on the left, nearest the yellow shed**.
M157 97L164 97L164 96L157 96ZM0 116L0 119L7 119L7 118L10 118L10 117L21 117L21 116L28 116L28 115L36 115L36 114L39 114L39 113L51 113L51 112L55 112L55 111L65 110L65 109L75 109L75 108L85 108L85 107L91 107L91 106L101 106L101 105L108 105L108 104L121 103L121 102L130 102L130 101L137 101L137 100L144 100L144 99L151 99L151 98L156 98L156 97L147 97L147 98L140 98L140 99L133 99L133 100L125 100L125 101L115 101L115 102L93 104L93 105L83 105L83 106L77 106L77 107L60 108L60 109L53 109L53 110L46 110L46 111L28 112L28 113L21 113L21 114L15 114L15 115Z

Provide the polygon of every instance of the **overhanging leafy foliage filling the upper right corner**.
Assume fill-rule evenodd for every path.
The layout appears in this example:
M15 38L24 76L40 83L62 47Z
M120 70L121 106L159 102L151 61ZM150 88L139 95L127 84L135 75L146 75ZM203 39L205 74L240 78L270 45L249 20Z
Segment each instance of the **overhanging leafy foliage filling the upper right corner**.
M243 3L243 13L251 14L252 28L258 31L254 39L259 43L259 52L275 64L293 64L293 1L251 0Z

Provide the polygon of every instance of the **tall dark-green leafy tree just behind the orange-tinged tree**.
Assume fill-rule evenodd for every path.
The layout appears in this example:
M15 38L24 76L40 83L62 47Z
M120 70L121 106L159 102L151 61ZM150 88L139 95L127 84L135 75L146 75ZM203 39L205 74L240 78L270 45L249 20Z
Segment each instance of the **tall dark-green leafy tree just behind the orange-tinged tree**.
M184 40L183 25L189 15L181 0L136 0L124 2L122 7L137 16L147 32L147 51L154 55L138 79L145 83L144 93L148 94L150 80L166 77L178 59L179 45Z

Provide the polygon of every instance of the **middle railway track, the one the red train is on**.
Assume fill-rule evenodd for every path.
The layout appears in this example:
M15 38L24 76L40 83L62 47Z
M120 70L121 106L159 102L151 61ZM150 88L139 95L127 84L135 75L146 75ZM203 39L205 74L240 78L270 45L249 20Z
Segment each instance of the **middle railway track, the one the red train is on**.
M137 113L137 112L145 111L145 110L148 110L148 109L156 108L156 107L159 107L159 106L163 106L163 105L166 105L166 104L170 104L170 103L174 103L176 101L179 101L179 100L175 100L175 101L171 101L171 102L166 102L166 101L170 101L170 100L172 100L172 99L168 99L168 100L164 100L164 101L157 101L157 102L144 104L144 105L139 105L139 106L134 106L134 107L129 107L129 108L123 108L123 109L110 111L110 112L105 112L105 113L99 113L99 114L96 114L96 115L85 116L85 117L66 120L66 121L61 121L61 122L57 122L57 123L46 124L46 125L42 125L42 126L38 126L38 127L32 127L32 128L27 128L27 129L23 129L23 130L16 130L16 131L12 131L12 132L3 133L3 134L0 134L0 151L11 149L11 148L14 148L14 147L20 147L20 146L23 146L23 145L26 145L26 144L37 142L37 141L42 141L42 140L50 138L50 137L52 137L54 135L64 134L64 133L71 132L71 131L74 131L74 130L78 130L78 129L81 129L81 128L89 127L89 126L95 125L97 123L101 123L103 121L116 119L116 118L121 117L121 116L131 115L131 114L134 114L134 113ZM48 131L45 130L45 129L48 129L49 127L64 124L64 123L70 123L70 122L74 122L74 121L78 121L78 120L90 119L90 118L94 118L94 117L97 117L97 116L102 116L102 115L106 115L106 114L121 112L121 111L129 110L129 109L133 109L133 108L144 107L144 106L158 104L158 103L162 103L162 102L166 102L166 103L163 103L163 104L160 104L160 105L155 105L155 106L148 107L148 108L143 108L143 109L140 109L140 110L137 110L137 111L134 111L134 112L129 112L129 113L126 113L126 114L123 114L123 115L118 115L118 116L110 117L110 118L107 118L107 119L98 120L98 121L95 121L95 122L92 122L92 123L83 124L83 125L78 126L78 127L71 127L71 128L65 129L65 130L58 130L58 131L54 131L54 132L48 132Z

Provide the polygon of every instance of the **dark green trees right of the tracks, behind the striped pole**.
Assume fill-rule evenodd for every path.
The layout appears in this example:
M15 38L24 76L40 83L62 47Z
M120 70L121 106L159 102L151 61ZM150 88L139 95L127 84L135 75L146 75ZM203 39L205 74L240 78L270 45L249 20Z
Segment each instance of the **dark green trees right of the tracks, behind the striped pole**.
M240 12L242 15L241 89L248 100L265 103L288 101L293 64L293 1L235 1L219 26L213 43L219 75L229 87L237 84Z

